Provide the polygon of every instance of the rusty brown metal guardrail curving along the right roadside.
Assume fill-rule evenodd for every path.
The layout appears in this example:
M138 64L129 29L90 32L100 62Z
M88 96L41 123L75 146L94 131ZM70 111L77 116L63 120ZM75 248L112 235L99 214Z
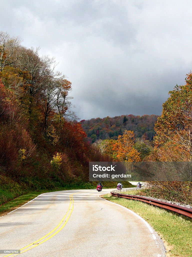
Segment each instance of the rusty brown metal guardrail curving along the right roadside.
M192 209L190 208L189 205L187 208L187 207L177 205L180 203L172 204L172 203L168 203L168 201L160 201L161 199L156 200L156 199L153 199L152 197L144 197L144 196L137 196L137 195L125 195L125 194L117 193L115 191L111 191L111 195L116 196L116 197L125 198L125 199L142 201L144 203L152 204L152 205L161 207L163 209L171 210L172 212L176 212L178 214L192 218ZM169 201L169 202L171 202L171 201Z

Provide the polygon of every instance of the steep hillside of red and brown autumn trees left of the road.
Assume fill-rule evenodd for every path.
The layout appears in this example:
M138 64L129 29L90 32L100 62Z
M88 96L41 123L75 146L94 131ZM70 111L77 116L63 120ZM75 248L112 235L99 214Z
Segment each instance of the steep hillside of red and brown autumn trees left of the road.
M54 58L0 32L1 189L88 181L89 161L109 160L73 122L71 82L56 67Z

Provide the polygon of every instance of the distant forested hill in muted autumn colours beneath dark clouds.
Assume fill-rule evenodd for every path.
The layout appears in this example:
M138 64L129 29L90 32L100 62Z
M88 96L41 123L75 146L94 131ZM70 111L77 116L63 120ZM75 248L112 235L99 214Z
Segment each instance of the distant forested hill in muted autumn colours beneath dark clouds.
M82 120L80 123L86 132L89 141L94 143L97 139L118 139L125 130L133 131L136 138L144 140L153 140L155 135L154 123L157 121L157 115L134 116L121 115L113 118L92 118L91 120Z

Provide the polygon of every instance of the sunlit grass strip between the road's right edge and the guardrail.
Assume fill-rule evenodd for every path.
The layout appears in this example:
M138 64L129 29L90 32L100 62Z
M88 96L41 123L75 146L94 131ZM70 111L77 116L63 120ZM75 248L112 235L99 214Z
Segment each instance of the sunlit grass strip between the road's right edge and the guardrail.
M129 191L128 193L137 194L137 191ZM167 250L170 254L168 256L192 256L192 219L140 201L118 198L110 194L103 195L102 197L133 210L144 218L167 242Z

